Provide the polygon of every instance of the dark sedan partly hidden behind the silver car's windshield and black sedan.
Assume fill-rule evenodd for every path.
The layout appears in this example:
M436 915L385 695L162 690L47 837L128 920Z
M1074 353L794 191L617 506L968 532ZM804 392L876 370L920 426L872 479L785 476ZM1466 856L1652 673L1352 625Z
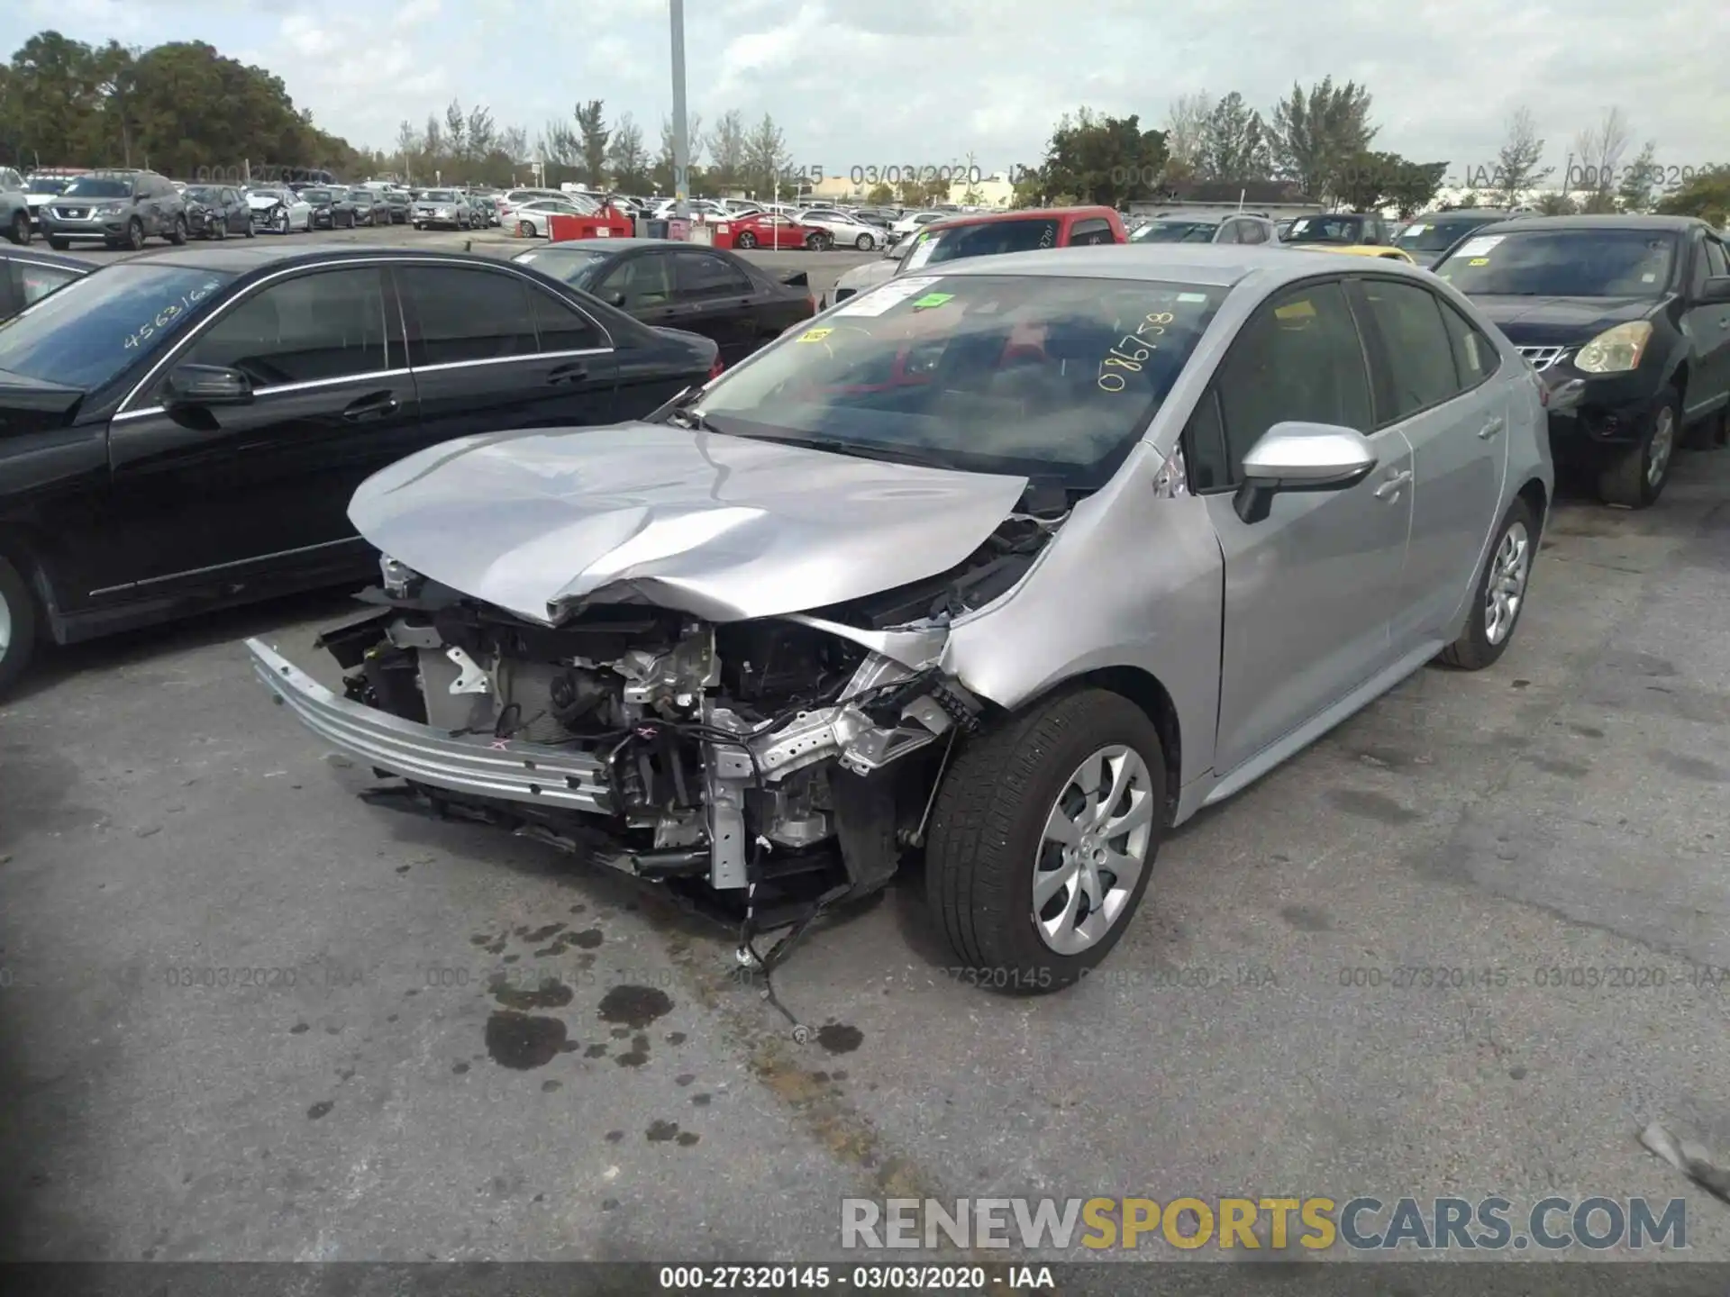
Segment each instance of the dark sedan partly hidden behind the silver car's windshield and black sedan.
M735 252L668 239L571 239L531 247L514 261L647 325L713 337L725 365L817 313L804 272L775 278Z

